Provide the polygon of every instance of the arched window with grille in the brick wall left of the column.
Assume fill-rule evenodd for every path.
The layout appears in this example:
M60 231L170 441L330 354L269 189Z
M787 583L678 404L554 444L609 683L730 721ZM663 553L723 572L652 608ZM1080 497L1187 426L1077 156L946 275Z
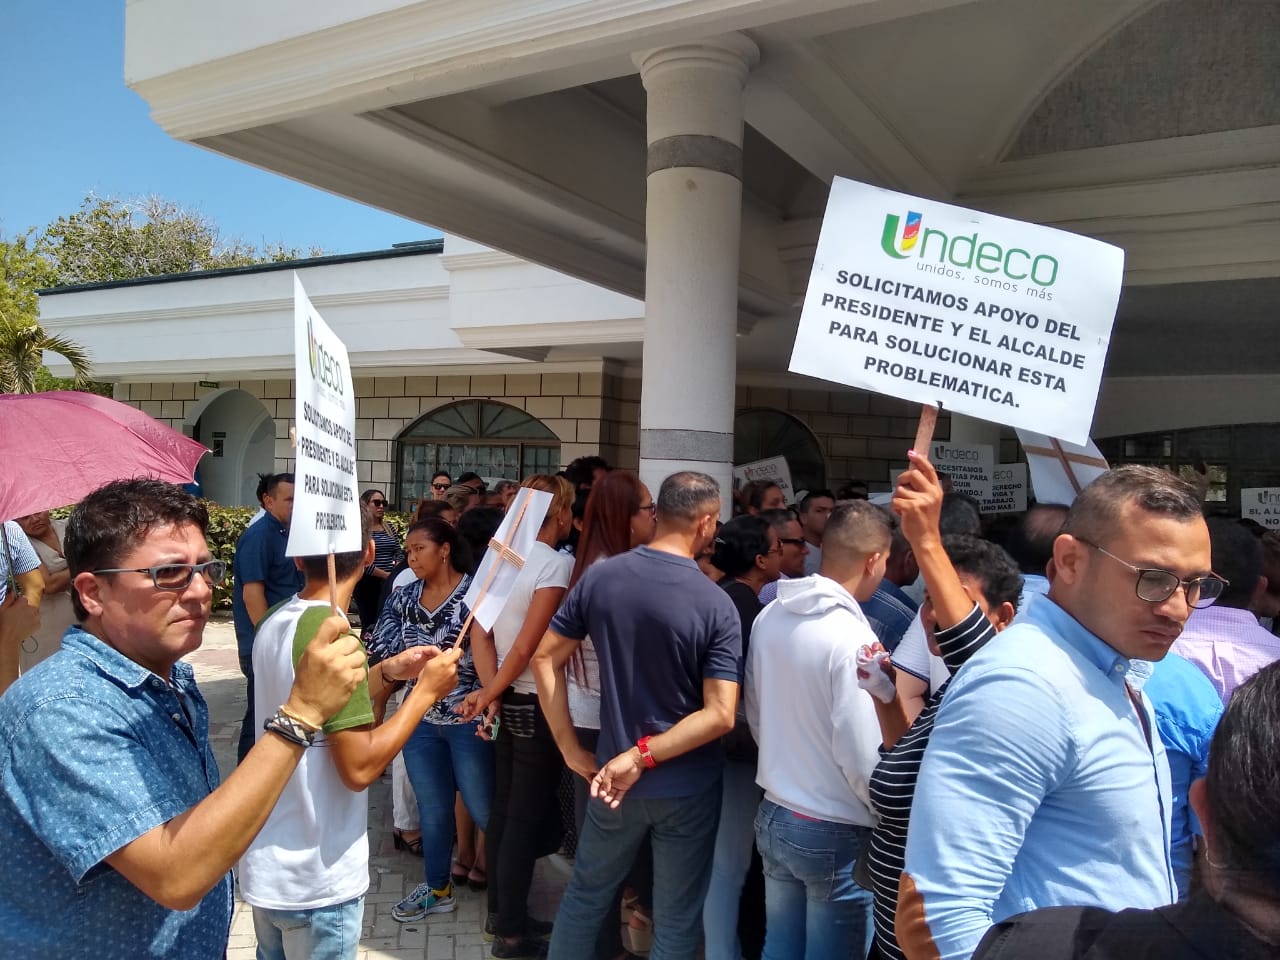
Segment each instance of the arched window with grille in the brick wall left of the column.
M396 438L398 506L430 495L431 474L474 471L489 483L554 474L559 438L525 411L488 399L458 401L433 410Z

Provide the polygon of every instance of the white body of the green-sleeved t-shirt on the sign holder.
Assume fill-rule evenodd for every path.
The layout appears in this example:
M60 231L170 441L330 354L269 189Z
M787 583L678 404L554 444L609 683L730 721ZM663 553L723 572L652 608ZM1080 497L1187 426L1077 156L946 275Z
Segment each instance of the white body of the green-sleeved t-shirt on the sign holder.
M289 698L294 631L312 607L328 611L329 604L294 596L264 620L253 636L259 737L265 735L262 721ZM371 721L370 712L366 722ZM362 896L369 890L367 831L367 794L343 785L325 735L316 733L241 859L241 896L266 910L314 910Z

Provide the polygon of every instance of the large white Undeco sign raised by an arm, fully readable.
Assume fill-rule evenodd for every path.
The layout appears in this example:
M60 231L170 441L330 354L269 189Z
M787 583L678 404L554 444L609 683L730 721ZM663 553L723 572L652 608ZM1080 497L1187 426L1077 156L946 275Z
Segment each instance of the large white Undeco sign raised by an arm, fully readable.
M869 187L831 187L790 370L1085 442L1124 251Z

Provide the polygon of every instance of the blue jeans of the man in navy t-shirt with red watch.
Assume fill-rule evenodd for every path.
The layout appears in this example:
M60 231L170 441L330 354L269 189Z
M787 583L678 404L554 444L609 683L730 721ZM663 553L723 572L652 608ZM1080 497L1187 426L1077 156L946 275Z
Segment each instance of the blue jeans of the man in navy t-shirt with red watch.
M646 836L653 842L649 957L696 956L719 806L719 778L694 796L652 800L628 796L617 810L602 800L589 800L573 876L556 915L548 960L582 960L594 955L600 924L616 915L618 886Z

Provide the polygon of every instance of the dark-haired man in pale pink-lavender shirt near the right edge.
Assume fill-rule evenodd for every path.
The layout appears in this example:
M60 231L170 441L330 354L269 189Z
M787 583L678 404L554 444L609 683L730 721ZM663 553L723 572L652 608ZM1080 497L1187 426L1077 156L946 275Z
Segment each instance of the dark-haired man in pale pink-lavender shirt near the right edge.
M1228 581L1217 603L1196 611L1174 653L1185 657L1217 690L1225 704L1231 691L1268 663L1280 659L1280 637L1263 630L1249 608L1266 595L1262 544L1234 520L1212 517L1208 536L1213 572Z

